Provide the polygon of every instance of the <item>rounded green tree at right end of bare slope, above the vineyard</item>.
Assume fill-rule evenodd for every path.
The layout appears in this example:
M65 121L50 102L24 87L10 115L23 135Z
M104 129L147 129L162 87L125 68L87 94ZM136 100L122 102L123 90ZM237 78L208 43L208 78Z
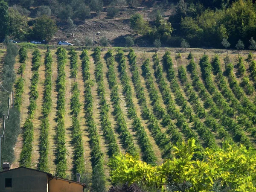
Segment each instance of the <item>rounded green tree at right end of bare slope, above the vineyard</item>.
M143 19L143 16L136 13L131 16L130 19L131 29L133 29L137 34L145 35L149 32L149 24Z

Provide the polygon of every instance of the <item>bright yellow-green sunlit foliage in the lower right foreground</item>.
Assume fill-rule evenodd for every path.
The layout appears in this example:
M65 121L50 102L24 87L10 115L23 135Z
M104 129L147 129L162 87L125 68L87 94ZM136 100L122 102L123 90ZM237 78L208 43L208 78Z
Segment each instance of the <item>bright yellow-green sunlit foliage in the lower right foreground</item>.
M195 160L197 145L188 140L175 147L173 158L160 166L148 165L129 154L116 156L109 163L113 183L137 183L168 191L254 191L255 151L244 146L207 148L204 160Z

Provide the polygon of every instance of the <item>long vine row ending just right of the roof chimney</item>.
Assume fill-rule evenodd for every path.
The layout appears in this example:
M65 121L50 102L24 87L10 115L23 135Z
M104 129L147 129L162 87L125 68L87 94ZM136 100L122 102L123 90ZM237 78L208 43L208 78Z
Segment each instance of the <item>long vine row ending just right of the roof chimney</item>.
M93 180L98 181L105 188L105 175L103 170L104 165L104 154L102 153L100 146L100 138L97 132L96 123L93 119L93 96L91 93L91 87L93 86L93 81L90 80L90 60L88 56L88 51L83 50L82 55L82 72L84 80L84 99L85 99L85 116L86 116L86 125L89 132L90 138L90 147L91 147L91 162L93 167ZM101 182L102 181L102 182ZM93 185L97 186L96 182L93 182Z

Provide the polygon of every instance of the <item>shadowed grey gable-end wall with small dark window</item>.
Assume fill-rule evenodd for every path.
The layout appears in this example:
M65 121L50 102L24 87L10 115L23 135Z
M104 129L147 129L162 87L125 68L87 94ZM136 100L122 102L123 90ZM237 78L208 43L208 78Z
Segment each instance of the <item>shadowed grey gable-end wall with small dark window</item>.
M5 178L12 178L12 188L5 188ZM2 172L0 192L47 192L47 175L25 168Z

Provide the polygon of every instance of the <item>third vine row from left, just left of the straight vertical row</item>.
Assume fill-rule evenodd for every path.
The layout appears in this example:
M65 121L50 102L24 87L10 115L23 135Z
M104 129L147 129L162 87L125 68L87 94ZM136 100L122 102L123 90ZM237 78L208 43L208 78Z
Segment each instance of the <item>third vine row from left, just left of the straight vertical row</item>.
M44 59L45 64L45 81L44 81L44 98L43 98L43 119L41 120L41 135L39 145L39 162L38 170L48 171L48 154L49 154L49 113L52 108L52 54L47 51Z

